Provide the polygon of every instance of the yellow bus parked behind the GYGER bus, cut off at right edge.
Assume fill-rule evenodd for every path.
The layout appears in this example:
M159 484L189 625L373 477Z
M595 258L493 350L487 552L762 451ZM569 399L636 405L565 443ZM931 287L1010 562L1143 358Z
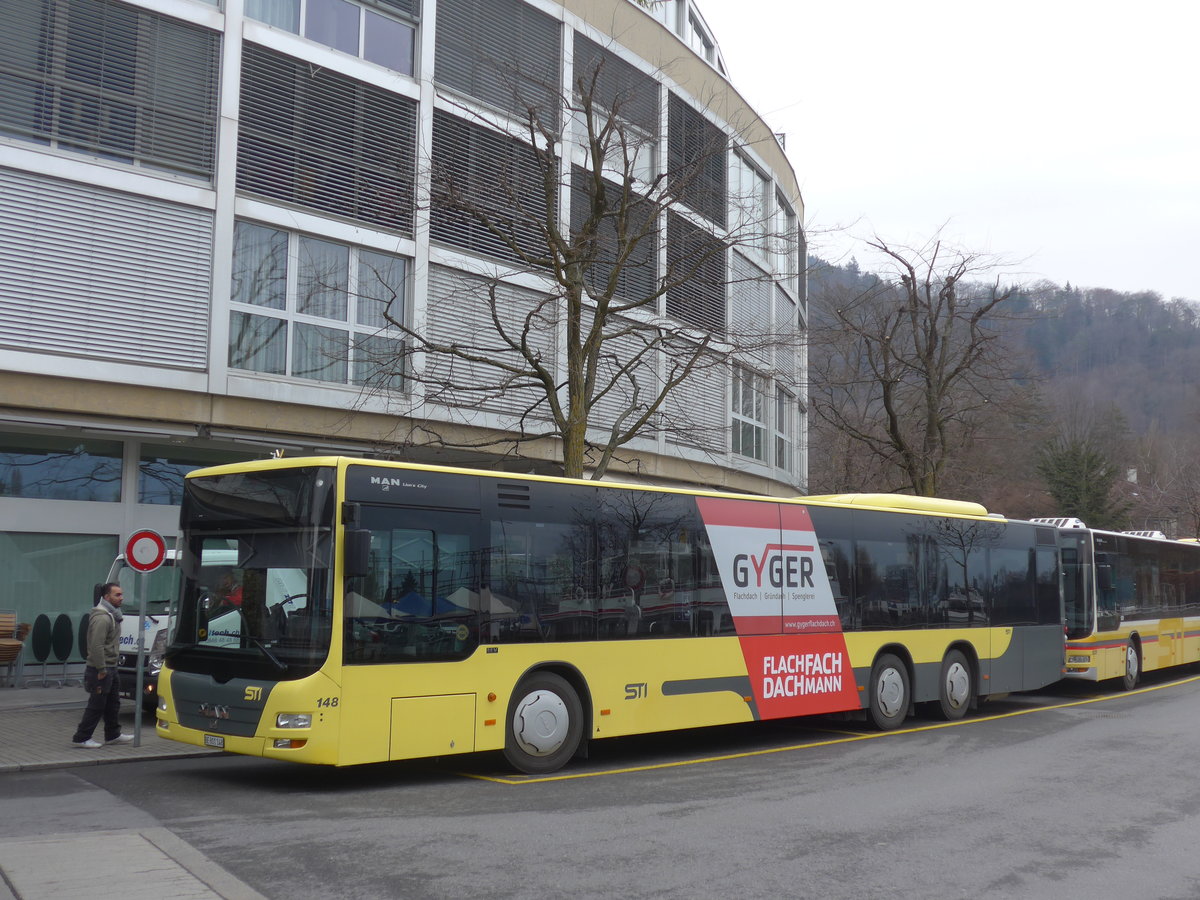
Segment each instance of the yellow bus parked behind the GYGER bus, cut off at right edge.
M1200 545L1159 532L1100 532L1078 518L1060 529L1067 678L1120 679L1200 661Z

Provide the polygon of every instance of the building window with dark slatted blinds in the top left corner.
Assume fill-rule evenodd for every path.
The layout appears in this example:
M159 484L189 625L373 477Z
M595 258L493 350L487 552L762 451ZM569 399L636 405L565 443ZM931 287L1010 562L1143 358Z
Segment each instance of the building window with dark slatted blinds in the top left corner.
M114 0L8 0L0 133L212 176L215 31Z

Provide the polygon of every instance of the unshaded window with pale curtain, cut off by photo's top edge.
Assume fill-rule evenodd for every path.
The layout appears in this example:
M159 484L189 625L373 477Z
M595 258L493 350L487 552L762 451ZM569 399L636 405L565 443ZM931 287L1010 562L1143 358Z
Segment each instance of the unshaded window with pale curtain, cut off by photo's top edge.
M246 14L310 41L413 74L420 0L248 0ZM304 23L301 30L300 24Z

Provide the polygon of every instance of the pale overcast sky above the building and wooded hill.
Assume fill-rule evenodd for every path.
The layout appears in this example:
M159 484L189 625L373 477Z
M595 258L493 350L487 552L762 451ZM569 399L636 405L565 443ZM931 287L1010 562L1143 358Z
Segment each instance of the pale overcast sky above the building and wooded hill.
M845 259L850 235L924 241L944 226L1022 281L1200 301L1200 7L701 10L734 86L787 136L815 253Z

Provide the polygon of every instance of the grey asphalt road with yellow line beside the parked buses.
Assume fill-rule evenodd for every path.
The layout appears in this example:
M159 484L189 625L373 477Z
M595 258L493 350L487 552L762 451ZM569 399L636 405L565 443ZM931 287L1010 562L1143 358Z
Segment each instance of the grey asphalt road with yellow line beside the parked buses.
M908 725L602 742L541 780L497 757L337 770L221 756L5 788L28 796L26 832L161 824L278 900L1200 898L1194 672Z

